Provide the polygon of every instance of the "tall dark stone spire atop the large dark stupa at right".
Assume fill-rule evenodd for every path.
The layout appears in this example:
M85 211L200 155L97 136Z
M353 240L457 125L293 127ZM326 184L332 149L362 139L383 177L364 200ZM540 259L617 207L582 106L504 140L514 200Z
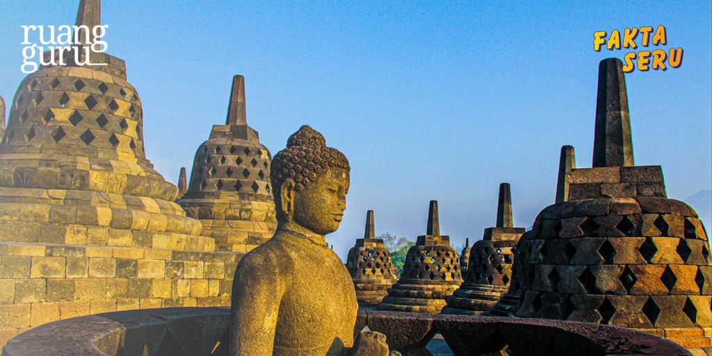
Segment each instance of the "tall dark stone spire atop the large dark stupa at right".
M623 63L617 58L607 58L598 66L593 167L633 165L633 140Z

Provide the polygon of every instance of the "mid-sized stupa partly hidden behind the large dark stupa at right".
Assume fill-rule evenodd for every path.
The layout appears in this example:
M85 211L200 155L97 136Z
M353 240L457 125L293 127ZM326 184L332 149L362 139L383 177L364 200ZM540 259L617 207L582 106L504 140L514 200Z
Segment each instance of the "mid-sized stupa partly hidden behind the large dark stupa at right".
M485 229L470 252L469 273L453 295L445 298L446 314L478 315L489 310L509 289L512 278L513 247L525 229L513 227L509 183L499 186L497 224Z

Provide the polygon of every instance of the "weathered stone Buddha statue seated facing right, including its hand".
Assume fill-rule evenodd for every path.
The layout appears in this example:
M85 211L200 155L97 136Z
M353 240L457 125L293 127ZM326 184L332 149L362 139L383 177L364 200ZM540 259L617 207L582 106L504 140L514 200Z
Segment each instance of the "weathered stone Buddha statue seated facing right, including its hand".
M274 156L277 229L235 271L230 355L366 355L353 350L358 304L349 273L325 235L339 227L349 189L346 157L302 126ZM384 337L360 335L368 355Z

